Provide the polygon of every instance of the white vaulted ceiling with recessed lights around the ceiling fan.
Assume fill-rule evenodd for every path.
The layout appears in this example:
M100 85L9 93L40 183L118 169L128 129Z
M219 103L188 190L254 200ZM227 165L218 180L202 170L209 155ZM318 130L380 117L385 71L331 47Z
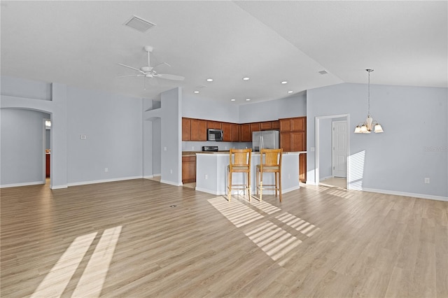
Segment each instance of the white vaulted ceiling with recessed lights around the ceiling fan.
M234 104L367 83L369 68L372 84L448 87L447 1L1 1L0 9L1 76L151 99L181 86L184 96ZM125 26L132 15L156 25ZM152 66L171 65L159 73L185 80L117 78L138 73L118 63L146 66L144 45L153 46Z

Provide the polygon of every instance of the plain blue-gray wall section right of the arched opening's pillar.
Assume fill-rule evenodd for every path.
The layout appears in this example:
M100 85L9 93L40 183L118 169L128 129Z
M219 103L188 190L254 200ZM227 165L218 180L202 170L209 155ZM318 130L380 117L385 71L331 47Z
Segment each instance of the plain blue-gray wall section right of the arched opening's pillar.
M141 177L141 99L67 87L67 101L69 183Z

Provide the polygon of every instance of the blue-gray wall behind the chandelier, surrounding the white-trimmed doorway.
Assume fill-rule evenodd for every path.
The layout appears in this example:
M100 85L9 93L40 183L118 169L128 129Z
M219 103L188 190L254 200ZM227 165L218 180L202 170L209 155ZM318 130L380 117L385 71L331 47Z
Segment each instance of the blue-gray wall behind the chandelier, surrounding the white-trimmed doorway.
M366 91L365 84L348 83L307 91L309 183L316 183L315 117L349 114L349 188L446 199L447 88L371 85L370 112L384 133L353 134L367 116Z

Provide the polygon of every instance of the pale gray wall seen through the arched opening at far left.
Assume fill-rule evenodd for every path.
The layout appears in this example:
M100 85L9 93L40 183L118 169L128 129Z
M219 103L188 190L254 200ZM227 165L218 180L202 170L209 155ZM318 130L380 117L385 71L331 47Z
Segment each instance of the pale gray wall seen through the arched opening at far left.
M15 108L0 110L0 185L45 183L43 119L47 113Z

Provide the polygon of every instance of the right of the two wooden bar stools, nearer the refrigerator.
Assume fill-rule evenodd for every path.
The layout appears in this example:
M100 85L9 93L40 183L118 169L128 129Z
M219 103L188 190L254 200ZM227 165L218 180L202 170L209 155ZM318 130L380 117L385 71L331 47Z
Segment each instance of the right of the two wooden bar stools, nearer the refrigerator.
M263 190L275 190L280 193L281 201L281 156L283 149L262 149L260 151L260 164L256 166L257 195L260 191L260 201L262 201ZM263 173L274 173L275 184L263 185ZM266 186L273 186L265 188Z

